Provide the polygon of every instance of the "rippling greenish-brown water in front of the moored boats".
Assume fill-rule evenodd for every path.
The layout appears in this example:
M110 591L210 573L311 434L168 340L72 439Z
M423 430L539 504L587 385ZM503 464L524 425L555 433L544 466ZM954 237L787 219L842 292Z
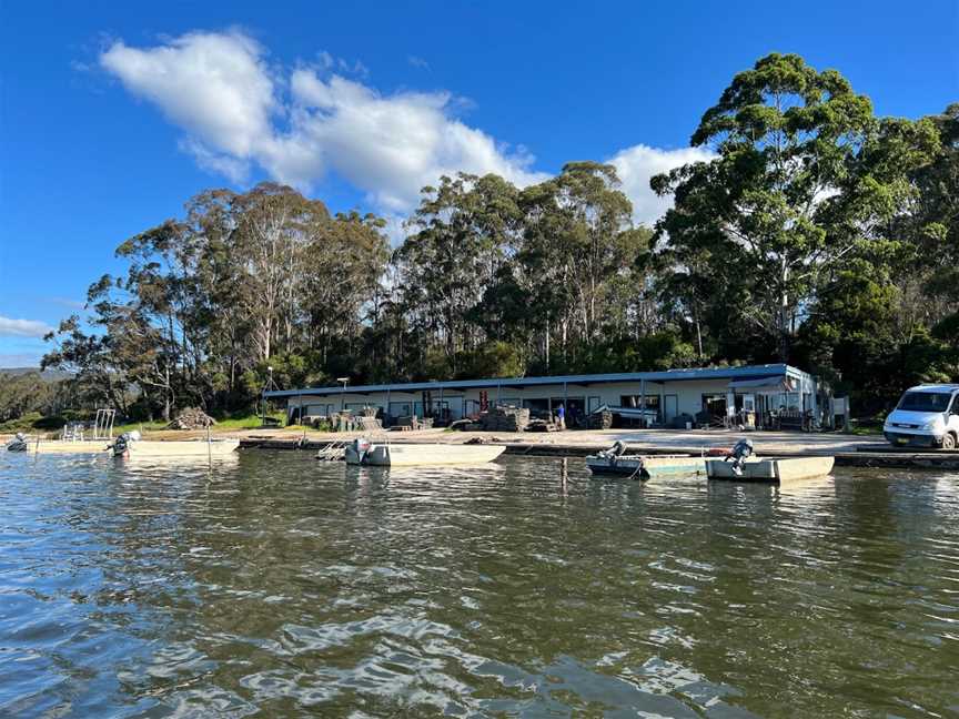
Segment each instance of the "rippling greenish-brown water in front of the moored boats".
M959 476L0 456L0 716L959 716Z

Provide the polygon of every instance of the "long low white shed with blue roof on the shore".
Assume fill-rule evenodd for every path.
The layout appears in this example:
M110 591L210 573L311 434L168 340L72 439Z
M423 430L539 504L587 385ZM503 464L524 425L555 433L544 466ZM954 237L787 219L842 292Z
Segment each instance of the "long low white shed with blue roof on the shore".
M657 424L704 411L726 416L745 411L757 419L770 411L808 413L821 417L824 388L812 375L786 364L703 367L664 372L628 372L552 377L509 377L411 382L381 385L304 387L265 393L285 401L291 421L329 416L344 409L382 409L388 417L445 416L451 421L494 405L555 412L567 417L589 414L606 405L645 408Z

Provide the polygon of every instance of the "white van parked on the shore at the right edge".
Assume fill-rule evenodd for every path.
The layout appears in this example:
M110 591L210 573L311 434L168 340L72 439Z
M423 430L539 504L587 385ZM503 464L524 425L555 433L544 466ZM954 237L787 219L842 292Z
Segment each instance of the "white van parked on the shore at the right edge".
M959 385L919 385L906 391L889 413L882 434L896 446L959 445Z

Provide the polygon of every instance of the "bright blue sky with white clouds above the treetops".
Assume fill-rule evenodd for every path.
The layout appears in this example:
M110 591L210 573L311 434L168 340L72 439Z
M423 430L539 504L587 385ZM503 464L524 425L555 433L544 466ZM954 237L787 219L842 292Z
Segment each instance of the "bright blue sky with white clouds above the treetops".
M273 178L398 225L441 172L649 174L771 52L879 114L959 100L959 3L0 0L0 366L117 272L113 250L211 186Z

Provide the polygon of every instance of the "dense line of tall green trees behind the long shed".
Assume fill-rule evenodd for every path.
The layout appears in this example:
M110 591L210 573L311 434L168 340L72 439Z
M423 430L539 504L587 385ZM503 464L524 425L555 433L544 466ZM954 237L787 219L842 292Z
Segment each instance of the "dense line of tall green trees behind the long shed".
M44 366L144 417L248 408L267 366L289 387L781 361L877 406L959 378L959 104L877 118L773 54L692 144L715 155L654 178L654 227L597 162L441 178L395 249L290 188L204 192L120 245Z

